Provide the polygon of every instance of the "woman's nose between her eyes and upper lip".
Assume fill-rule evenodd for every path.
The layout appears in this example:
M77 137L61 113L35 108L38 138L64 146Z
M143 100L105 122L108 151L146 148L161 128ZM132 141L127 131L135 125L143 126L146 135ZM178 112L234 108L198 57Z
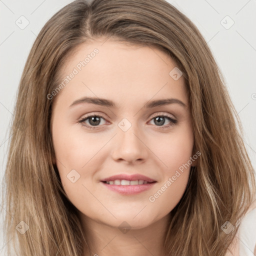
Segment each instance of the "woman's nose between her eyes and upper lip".
M128 130L122 131L119 129L113 142L114 149L112 150L112 158L115 161L125 161L128 163L144 162L147 155L146 142L138 135L138 130L135 125L132 125Z

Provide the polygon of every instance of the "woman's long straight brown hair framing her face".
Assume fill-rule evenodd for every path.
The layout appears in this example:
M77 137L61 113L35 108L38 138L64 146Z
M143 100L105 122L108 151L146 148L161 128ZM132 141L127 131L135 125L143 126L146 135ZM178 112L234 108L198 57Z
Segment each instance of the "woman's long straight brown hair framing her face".
M47 95L59 84L60 68L75 47L100 36L157 47L182 71L194 149L201 156L163 230L165 255L224 255L254 198L254 171L207 43L164 0L75 0L39 32L21 76L10 130L4 180L9 254L15 245L20 255L82 255L81 223L52 163L50 120L56 97ZM220 228L227 220L234 226L228 235Z

